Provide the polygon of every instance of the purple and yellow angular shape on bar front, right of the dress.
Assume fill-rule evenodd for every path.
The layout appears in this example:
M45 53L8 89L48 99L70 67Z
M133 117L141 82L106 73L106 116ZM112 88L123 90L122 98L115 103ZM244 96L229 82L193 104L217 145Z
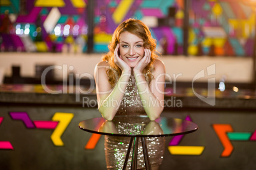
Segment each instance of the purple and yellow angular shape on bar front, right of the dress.
M186 121L192 121L188 115ZM184 134L174 136L169 142L168 150L172 155L201 155L204 151L204 146L177 146Z

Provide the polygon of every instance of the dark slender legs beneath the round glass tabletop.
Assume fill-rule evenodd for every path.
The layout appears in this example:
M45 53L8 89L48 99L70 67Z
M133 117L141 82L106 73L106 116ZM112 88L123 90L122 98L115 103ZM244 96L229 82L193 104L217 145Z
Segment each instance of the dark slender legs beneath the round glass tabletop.
M133 148L132 148L132 143L133 143ZM141 137L141 143L142 143L142 148L143 148L143 155L144 155L144 161L145 161L145 166L146 166L146 170L150 169L151 170L151 165L150 165L150 159L148 157L148 149L146 147L146 138L145 137ZM131 152L131 148L132 148L132 166L131 169L132 170L136 170L137 169L137 157L138 157L138 137L131 137L128 149L127 149L127 154L125 156L125 161L124 161L124 167L123 170L126 169L127 166L127 162L129 159L129 155Z

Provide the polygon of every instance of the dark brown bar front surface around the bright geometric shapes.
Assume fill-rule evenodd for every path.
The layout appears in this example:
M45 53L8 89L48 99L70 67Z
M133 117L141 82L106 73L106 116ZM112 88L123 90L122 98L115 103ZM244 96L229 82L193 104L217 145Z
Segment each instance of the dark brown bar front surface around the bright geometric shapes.
M27 128L24 122L11 118L10 112L27 112L31 121L52 121L57 112L73 114L61 136L64 146L51 140L55 129ZM185 119L188 116L199 129L186 134L178 146L203 146L199 155L173 155L166 150L160 169L254 169L256 166L255 140L229 140L234 150L222 156L224 146L213 124L226 124L233 133L248 133L252 138L256 130L256 112L220 110L164 110L162 116ZM101 117L96 108L49 107L44 105L1 105L0 141L10 141L11 149L0 149L0 169L106 169L104 159L104 136L94 149L85 149L92 134L78 128L85 119Z

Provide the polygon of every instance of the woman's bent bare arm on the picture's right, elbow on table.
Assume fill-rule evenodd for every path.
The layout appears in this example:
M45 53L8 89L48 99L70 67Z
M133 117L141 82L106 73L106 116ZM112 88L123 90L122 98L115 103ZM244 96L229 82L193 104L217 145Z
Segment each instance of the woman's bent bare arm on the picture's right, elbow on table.
M150 52L145 51L145 57L141 59L141 62L148 63L146 55L150 55ZM166 69L162 61L156 60L154 67L154 79L150 82L150 85L146 82L145 76L142 74L142 69L134 67L134 77L138 87L139 97L151 121L155 121L164 109L164 82L166 74Z

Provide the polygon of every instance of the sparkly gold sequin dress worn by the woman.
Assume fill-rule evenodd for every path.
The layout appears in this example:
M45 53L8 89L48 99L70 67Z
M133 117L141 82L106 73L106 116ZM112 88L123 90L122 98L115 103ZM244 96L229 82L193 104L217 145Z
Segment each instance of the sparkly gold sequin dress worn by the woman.
M125 89L122 103L118 108L116 115L146 115L146 112L141 105L138 89L136 86L135 78L131 75L127 88ZM122 126L122 125L118 125ZM124 124L124 126L127 126ZM129 137L107 136L104 138L104 149L106 157L106 165L108 169L122 169L124 165L125 155L129 145ZM148 147L148 155L150 157L151 166L159 166L162 162L164 155L164 142L165 139L161 137L146 138ZM131 169L132 150L129 156L126 169ZM145 169L143 148L139 138L138 147L138 162L137 169Z

